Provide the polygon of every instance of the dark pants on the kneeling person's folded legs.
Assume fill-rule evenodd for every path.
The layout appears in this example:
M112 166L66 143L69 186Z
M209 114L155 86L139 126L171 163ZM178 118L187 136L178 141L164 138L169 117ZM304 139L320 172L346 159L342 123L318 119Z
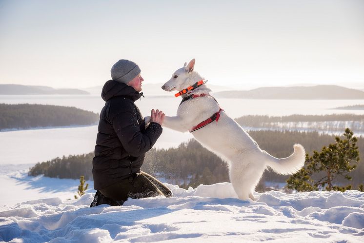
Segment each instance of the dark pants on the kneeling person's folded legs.
M135 173L129 178L114 183L96 192L92 206L109 204L122 205L128 198L148 198L163 195L172 197L171 190L148 173Z

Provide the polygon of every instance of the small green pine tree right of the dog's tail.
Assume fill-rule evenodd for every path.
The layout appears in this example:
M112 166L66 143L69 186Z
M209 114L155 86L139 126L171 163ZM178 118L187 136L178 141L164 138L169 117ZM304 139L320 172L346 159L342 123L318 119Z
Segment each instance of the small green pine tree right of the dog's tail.
M356 145L358 139L353 136L349 128L345 129L343 136L343 140L336 137L336 143L324 146L320 153L314 150L312 157L306 154L305 166L286 181L287 188L297 191L351 189L351 185L344 187L333 185L338 176L350 181L348 173L354 170L356 163L359 162L359 150ZM312 175L320 179L314 180Z

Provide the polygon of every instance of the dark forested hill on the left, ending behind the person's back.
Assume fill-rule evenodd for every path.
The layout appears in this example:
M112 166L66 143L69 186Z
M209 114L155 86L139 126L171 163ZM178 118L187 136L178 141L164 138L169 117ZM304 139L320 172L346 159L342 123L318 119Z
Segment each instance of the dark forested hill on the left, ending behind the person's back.
M91 125L99 114L76 107L0 103L0 131L49 126Z

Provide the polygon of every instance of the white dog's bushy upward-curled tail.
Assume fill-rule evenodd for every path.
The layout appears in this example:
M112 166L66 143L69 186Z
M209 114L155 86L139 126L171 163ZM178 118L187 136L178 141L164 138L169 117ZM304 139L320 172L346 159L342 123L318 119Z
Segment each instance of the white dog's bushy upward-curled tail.
M293 154L283 159L275 158L264 151L268 157L266 165L272 168L274 172L282 175L291 175L296 173L303 167L306 154L301 144L293 145L293 149Z

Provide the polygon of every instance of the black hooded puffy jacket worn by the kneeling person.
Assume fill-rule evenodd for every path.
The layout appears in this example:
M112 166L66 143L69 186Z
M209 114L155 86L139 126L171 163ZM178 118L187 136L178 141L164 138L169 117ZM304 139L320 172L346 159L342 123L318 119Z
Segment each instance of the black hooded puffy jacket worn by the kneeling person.
M131 86L109 80L102 88L106 101L101 110L95 157L94 189L103 189L140 172L145 153L162 134L160 124L145 122L134 101L141 97Z

